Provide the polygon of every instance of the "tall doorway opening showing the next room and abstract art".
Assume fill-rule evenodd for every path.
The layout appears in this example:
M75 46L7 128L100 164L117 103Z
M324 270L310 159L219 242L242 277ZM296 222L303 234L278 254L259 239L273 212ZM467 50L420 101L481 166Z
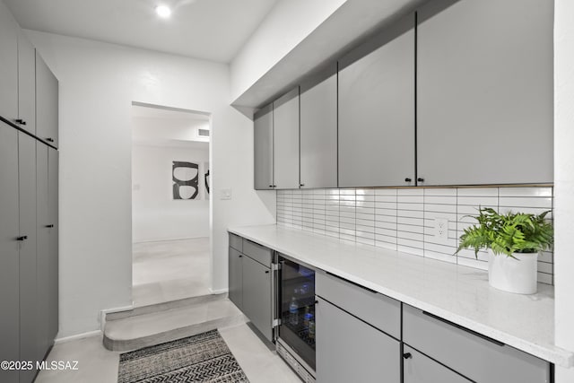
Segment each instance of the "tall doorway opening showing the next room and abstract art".
M132 296L150 306L210 294L210 117L132 104Z

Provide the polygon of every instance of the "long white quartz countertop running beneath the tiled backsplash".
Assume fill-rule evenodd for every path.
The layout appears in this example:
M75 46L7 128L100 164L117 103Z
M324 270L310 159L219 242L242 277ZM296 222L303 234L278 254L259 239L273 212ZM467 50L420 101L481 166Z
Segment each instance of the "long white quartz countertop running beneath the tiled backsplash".
M273 248L396 300L448 319L545 361L570 367L574 353L554 344L554 290L500 292L485 271L343 242L277 225L231 228L230 232Z

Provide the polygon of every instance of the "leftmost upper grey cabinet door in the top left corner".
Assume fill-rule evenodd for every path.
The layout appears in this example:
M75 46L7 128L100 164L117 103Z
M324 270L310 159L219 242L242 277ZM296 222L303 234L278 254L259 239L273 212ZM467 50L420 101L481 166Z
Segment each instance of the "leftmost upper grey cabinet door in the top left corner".
M0 2L0 117L18 116L18 24Z

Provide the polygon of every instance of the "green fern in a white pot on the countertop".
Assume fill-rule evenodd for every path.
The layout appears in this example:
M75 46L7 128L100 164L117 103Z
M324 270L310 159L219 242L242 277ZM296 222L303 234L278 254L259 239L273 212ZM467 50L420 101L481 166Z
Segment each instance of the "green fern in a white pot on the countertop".
M552 248L552 223L541 214L499 214L490 207L479 208L478 222L460 236L457 253L474 248L474 256L485 248L489 252L488 279L492 287L505 292L534 294L538 254ZM457 254L455 253L455 254Z

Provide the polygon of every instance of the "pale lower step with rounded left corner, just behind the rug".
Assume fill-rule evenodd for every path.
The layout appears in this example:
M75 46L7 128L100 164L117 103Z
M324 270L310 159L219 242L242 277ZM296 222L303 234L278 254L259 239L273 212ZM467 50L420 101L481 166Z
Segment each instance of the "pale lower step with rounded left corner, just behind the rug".
M226 298L155 312L139 312L138 315L125 318L110 319L108 316L103 344L111 351L132 351L215 328L237 326L246 320L241 311Z

